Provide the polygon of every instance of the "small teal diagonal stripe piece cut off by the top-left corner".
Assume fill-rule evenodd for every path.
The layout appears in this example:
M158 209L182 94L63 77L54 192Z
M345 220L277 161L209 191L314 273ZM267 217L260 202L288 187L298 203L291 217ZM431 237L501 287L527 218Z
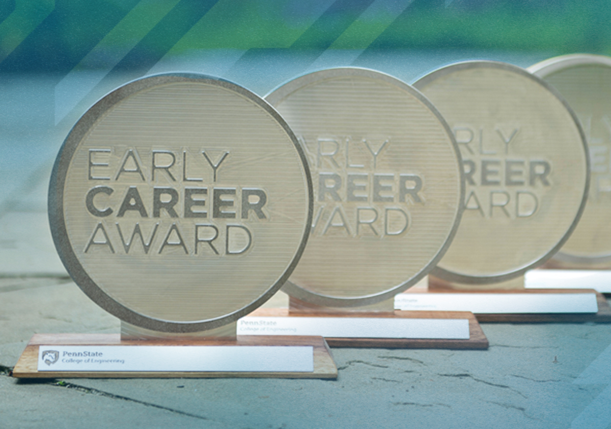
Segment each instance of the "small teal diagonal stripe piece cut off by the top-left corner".
M16 0L15 10L0 23L0 62L53 12L54 7L54 0Z

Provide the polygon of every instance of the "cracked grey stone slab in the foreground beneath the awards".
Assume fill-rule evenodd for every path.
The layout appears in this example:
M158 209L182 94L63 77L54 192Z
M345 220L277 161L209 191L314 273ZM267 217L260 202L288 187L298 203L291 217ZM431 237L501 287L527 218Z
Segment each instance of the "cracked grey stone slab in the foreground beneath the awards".
M275 299L285 305L285 295ZM117 416L130 427L611 425L608 413L601 413L611 380L611 325L484 324L483 329L491 344L484 351L335 348L335 381L75 378L57 386L0 375L0 391L9 398L0 427L4 422L79 427L81 418L109 427ZM0 279L0 332L0 365L11 367L35 332L119 332L119 321L67 279ZM58 403L69 404L63 405L70 408L64 423Z

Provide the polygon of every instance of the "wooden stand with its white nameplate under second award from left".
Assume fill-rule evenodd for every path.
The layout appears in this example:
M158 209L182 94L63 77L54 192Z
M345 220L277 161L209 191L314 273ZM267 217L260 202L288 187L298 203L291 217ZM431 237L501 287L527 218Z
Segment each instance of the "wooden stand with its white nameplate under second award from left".
M295 329L308 335L322 335L332 347L362 348L488 348L488 339L470 312L428 312L394 310L393 299L365 309L314 306L290 297L289 308L259 308L238 321L238 333L244 326L263 324L279 332ZM390 308L389 308L390 307ZM398 323L397 323L398 322ZM445 335L444 324L458 322L466 337ZM250 324L250 325L249 325ZM376 325L387 326L384 337L368 336ZM455 323L456 325L456 323ZM266 332L265 327L263 331Z

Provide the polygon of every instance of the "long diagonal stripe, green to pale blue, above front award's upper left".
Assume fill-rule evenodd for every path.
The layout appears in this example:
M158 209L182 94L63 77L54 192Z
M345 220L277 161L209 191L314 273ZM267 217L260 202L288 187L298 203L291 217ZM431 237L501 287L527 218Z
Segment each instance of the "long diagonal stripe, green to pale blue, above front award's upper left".
M55 123L75 108L178 3L141 0L55 87ZM104 68L96 69L98 57ZM92 70L83 71L89 68Z

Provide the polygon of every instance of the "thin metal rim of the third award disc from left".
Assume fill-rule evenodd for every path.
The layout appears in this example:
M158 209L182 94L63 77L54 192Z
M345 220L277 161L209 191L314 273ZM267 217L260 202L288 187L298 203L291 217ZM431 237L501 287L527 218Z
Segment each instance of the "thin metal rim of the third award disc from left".
M585 177L584 195L579 204L579 208L577 210L577 215L575 219L573 220L573 222L571 222L571 225L568 227L568 229L563 234L563 236L560 238L560 240L555 244L555 246L552 249L550 249L549 252L547 252L542 257L540 257L538 260L535 260L526 266L518 267L514 271L500 273L500 274L497 274L496 276L468 276L465 274L459 274L453 271L445 270L444 268L441 268L440 266L436 266L431 271L431 274L441 279L444 279L445 281L458 282L458 283L464 283L464 284L489 284L489 283L508 281L508 280L524 275L526 271L532 270L533 268L536 268L537 266L540 266L543 263L545 263L547 260L551 259L551 257L554 256L554 254L556 254L558 250L560 250L560 248L562 248L563 244L566 243L566 241L571 236L571 233L573 233L573 230L576 228L577 223L579 222L579 219L581 218L582 213L584 213L585 204L588 199L588 189L590 188L590 159L588 156L588 147L585 141L584 130L581 127L579 119L577 118L577 115L575 114L571 106L569 106L569 104L566 102L565 98L562 97L560 92L558 92L558 90L555 89L553 86L551 86L551 84L548 84L546 81L539 78L538 76L535 76L532 73L529 73L529 71L525 70L524 68L518 67L517 65L508 64L505 62L489 61L489 60L473 60L473 61L456 62L454 64L449 64L444 67L438 68L437 70L433 70L430 73L426 74L425 76L422 76L421 78L417 79L417 81L415 81L413 85L417 89L420 89L422 87L425 87L430 82L433 82L434 80L441 78L442 76L449 75L450 73L453 73L454 71L466 70L469 68L481 68L481 67L491 67L491 68L497 68L497 69L505 70L505 71L513 71L514 73L517 73L518 75L531 79L532 81L535 81L537 84L540 84L542 87L547 89L552 95L554 95L554 97L558 99L558 101L560 101L560 103L562 103L563 106L565 106L566 111L568 111L569 115L573 118L573 122L576 125L577 131L579 131L579 135L581 137L582 147L584 148L584 152L586 155L585 162L586 162L586 173L587 174Z

